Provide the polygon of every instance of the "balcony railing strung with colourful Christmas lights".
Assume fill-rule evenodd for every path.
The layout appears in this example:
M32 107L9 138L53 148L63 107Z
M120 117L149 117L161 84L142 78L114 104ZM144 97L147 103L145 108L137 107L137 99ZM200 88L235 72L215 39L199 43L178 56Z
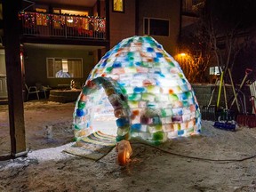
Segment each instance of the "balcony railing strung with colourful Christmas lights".
M106 38L105 18L71 16L43 12L20 12L22 34L64 38Z

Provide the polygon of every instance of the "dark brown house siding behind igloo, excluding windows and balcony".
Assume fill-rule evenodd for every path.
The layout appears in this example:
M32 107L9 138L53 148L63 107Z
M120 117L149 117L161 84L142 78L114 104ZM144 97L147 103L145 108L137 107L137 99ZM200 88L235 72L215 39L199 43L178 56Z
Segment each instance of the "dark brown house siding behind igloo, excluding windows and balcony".
M139 36L143 36L143 18L157 18L170 20L170 36L153 36L156 41L164 46L164 50L170 53L172 56L177 53L177 40L180 34L180 0L127 0L124 2L124 12L113 12L112 2L107 1L105 4L104 1L100 1L100 16L106 16L107 28L109 28L109 39L100 46L102 49L98 51L92 51L93 54L88 54L88 51L80 50L70 50L61 48L60 50L54 50L50 46L47 48L40 48L35 45L28 45L29 41L26 39L23 41L24 51L26 53L25 71L26 71L26 83L28 85L34 85L37 82L42 84L49 84L51 87L57 87L58 84L69 84L70 79L55 79L47 78L46 71L46 58L47 57L62 57L62 58L83 58L84 66L84 78L75 79L82 84L85 82L87 76L89 75L93 66L100 60L105 52L108 52L113 46L121 42L124 38L135 36L136 32ZM95 4L92 8L91 13L98 10L99 4ZM137 7L136 7L137 6ZM56 7L56 6L53 6ZM105 11L105 8L108 8L109 12ZM109 14L109 17L108 17ZM58 41L57 38L47 38L45 37L44 42L39 40L43 38L38 38L33 44L66 44L63 41ZM52 41L55 41L53 43ZM81 44L81 41L78 39L68 39L72 41L72 44ZM67 40L67 41L68 41ZM32 43L32 42L31 42ZM69 42L70 43L70 42ZM68 43L68 44L69 44ZM104 43L104 44L103 44ZM108 46L109 43L109 46ZM87 44L84 42L84 44ZM87 45L96 45L96 42L88 42ZM99 45L99 44L97 44ZM105 46L105 48L103 48ZM92 50L94 50L92 48Z

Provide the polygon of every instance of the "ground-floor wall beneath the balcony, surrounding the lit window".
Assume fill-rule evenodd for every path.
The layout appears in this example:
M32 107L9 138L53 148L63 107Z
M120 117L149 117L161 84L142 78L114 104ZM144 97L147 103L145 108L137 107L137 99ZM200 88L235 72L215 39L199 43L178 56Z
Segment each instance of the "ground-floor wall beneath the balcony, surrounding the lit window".
M24 46L26 54L25 71L26 83L35 85L42 83L52 88L58 87L58 84L70 84L70 78L47 78L46 58L82 58L83 59L83 78L74 78L76 82L83 84L94 67L96 60L95 52L70 49L44 49L31 46Z

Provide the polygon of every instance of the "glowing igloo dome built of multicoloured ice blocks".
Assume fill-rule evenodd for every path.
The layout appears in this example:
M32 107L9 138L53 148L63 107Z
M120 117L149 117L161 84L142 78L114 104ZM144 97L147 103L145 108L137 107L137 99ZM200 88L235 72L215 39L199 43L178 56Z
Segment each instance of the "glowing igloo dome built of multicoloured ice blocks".
M198 134L201 114L178 62L150 36L132 36L92 69L74 112L75 139L94 132L94 114L116 116L116 141Z

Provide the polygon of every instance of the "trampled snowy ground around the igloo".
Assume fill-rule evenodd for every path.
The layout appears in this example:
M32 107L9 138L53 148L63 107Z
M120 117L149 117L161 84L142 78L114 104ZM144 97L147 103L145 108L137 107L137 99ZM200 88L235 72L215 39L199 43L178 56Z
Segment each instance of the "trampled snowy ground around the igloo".
M133 142L132 161L119 166L115 149L97 162L62 152L72 144L75 103L24 105L28 157L0 162L0 191L256 191L256 129L203 121L200 136ZM0 106L1 155L10 151L7 108Z

